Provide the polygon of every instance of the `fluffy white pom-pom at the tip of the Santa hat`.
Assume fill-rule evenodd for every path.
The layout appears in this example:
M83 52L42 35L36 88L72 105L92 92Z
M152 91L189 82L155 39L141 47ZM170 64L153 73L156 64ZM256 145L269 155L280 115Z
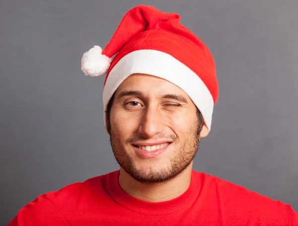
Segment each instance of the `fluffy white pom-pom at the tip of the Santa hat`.
M99 76L108 71L112 59L101 53L102 49L99 46L94 46L84 53L81 60L81 69L85 75Z

